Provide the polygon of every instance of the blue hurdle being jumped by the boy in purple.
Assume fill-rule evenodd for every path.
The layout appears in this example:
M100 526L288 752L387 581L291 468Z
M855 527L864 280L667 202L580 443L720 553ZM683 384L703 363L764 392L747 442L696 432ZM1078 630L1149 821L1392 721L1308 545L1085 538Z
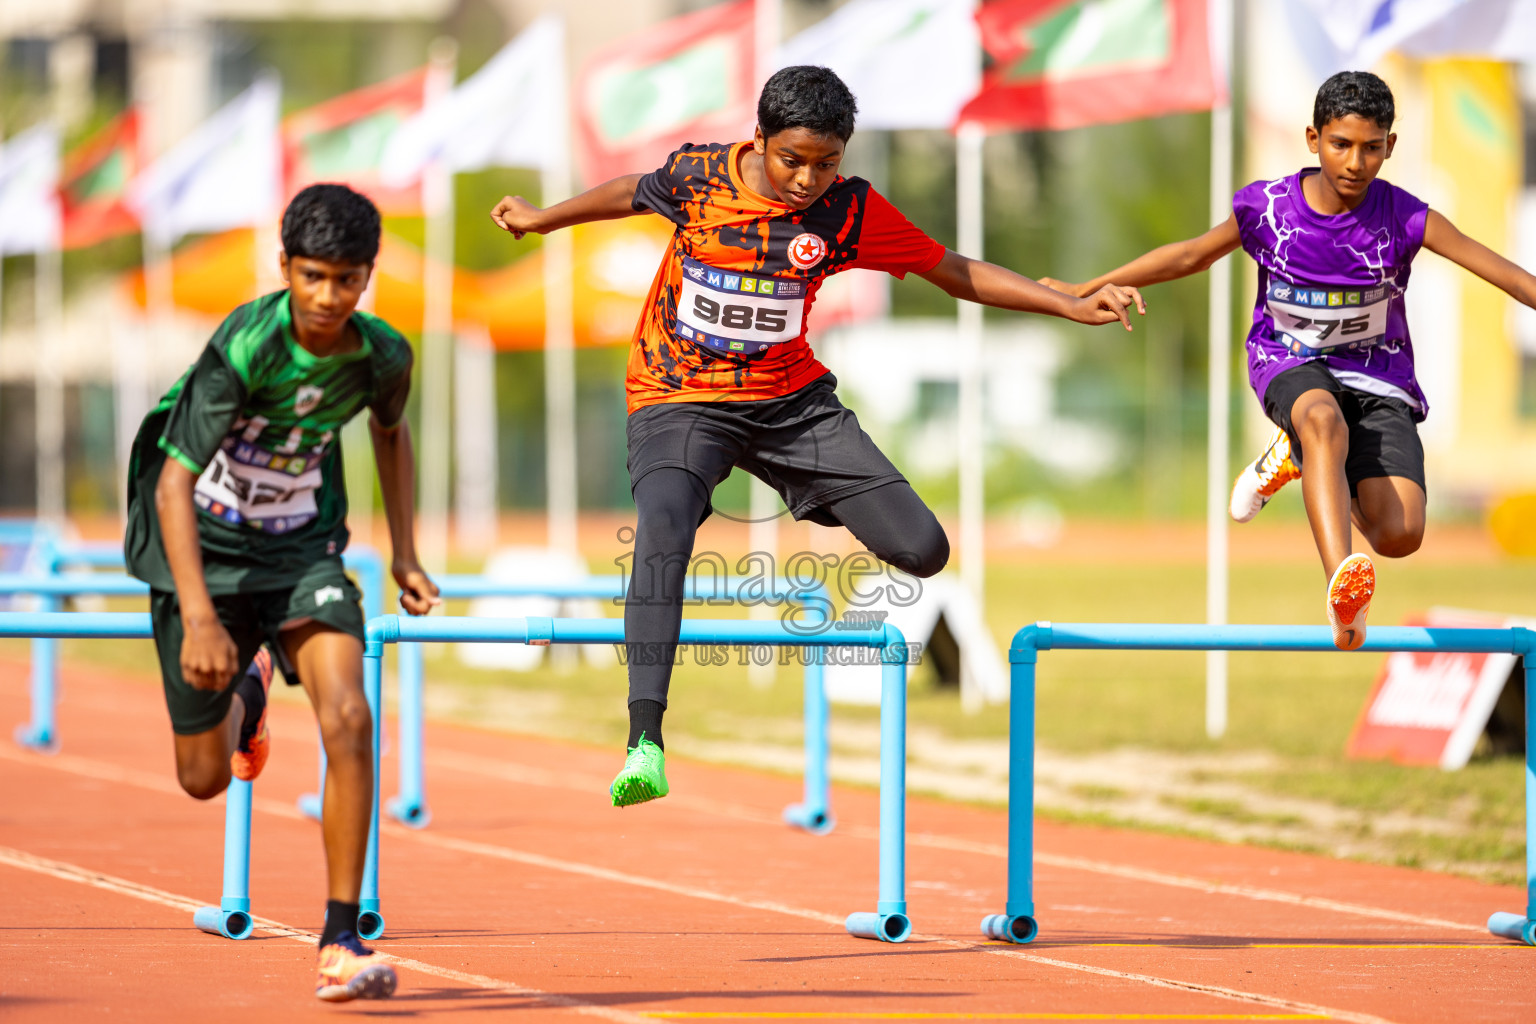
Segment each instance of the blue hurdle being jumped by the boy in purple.
M1014 634L1008 748L1008 895L982 920L988 938L1029 943L1035 921L1035 663L1040 651L1336 651L1326 626L1098 625L1037 622ZM1536 633L1372 626L1361 651L1518 654L1525 668L1525 913L1493 913L1488 930L1536 946Z

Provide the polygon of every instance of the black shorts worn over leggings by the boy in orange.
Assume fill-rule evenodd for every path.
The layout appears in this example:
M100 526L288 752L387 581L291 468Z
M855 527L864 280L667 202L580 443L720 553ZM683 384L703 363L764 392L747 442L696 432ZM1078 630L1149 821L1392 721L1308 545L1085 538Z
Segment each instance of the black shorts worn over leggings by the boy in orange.
M905 482L885 453L837 401L837 378L759 402L659 402L630 413L630 488L651 470L688 470L713 491L742 467L779 491L796 519L842 525L829 502ZM714 511L705 507L703 519ZM700 519L702 522L702 519Z

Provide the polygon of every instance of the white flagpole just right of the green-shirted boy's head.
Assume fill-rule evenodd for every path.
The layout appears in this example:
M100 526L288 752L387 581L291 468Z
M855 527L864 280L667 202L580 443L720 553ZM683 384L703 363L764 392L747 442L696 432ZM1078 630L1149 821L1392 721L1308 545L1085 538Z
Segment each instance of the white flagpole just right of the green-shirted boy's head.
M427 104L453 89L458 45L432 43ZM421 554L429 571L449 563L449 467L453 450L453 172L433 161L422 172L427 238L422 253L421 313Z

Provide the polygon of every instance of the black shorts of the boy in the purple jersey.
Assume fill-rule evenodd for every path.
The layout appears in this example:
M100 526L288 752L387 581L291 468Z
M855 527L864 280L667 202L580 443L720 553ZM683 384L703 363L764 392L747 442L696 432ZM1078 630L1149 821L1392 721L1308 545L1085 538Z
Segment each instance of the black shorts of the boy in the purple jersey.
M1264 388L1264 415L1290 436L1290 457L1299 467L1301 439L1290 424L1290 410L1303 391L1332 391L1349 427L1344 477L1349 493L1375 476L1402 476L1424 488L1424 445L1413 422L1413 408L1396 398L1372 395L1341 384L1321 359L1303 362L1276 376Z

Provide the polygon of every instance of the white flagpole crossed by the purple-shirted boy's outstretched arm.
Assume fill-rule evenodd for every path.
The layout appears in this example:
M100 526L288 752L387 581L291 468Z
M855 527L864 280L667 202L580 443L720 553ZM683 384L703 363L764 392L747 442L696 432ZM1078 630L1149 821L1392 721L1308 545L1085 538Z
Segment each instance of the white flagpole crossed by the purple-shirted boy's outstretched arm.
M1210 0L1212 74L1221 101L1210 109L1210 223L1232 207L1232 0ZM1206 622L1227 620L1227 462L1232 438L1232 258L1210 267L1210 411L1206 434ZM1206 735L1227 731L1227 652L1206 652Z

